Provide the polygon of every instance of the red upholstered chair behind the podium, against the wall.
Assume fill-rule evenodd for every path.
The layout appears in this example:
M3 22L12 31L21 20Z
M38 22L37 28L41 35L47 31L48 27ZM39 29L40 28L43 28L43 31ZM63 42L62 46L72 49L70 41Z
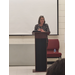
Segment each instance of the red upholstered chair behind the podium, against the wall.
M54 52L54 49L56 49L56 52ZM59 52L59 40L48 39L47 58L61 58L61 55Z

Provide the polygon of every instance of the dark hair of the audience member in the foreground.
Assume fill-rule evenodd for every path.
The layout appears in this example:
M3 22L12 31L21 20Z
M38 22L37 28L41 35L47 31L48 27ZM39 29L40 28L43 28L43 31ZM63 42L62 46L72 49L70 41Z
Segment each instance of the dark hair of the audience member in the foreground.
M65 75L65 59L57 60L47 69L46 75Z

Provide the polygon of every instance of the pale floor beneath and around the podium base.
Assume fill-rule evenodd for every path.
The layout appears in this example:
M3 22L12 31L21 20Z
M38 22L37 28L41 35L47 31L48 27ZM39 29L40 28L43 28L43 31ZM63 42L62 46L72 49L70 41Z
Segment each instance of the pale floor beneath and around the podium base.
M9 75L46 75L46 72L33 73L33 69L35 66L9 66Z

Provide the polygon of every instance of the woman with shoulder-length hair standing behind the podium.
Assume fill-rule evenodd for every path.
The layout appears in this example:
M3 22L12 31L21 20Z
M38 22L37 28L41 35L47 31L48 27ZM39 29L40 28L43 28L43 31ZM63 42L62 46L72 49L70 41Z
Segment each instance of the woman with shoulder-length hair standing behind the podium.
M44 16L39 17L38 24L35 25L34 30L41 32L50 32L48 24L45 24ZM47 46L48 46L48 37L47 37Z

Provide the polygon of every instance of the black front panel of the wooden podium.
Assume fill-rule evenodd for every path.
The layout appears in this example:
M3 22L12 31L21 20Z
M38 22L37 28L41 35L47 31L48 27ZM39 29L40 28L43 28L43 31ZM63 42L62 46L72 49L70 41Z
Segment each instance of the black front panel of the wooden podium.
M46 58L46 38L35 39L35 64L36 71L46 71L47 69L47 58Z

